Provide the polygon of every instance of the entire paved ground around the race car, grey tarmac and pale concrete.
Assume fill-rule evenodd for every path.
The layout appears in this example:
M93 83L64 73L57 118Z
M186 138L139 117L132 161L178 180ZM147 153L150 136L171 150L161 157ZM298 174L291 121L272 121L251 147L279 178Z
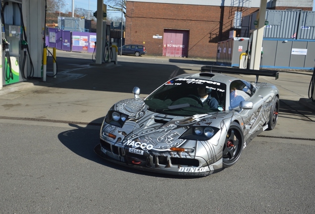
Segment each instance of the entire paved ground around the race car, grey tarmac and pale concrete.
M134 86L146 96L212 62L122 56L118 65L94 66L88 54L58 55L57 78L1 92L0 213L314 213L315 108L301 104L312 72L260 77L280 91L275 129L256 137L232 167L184 178L131 170L93 148L108 108L132 98Z

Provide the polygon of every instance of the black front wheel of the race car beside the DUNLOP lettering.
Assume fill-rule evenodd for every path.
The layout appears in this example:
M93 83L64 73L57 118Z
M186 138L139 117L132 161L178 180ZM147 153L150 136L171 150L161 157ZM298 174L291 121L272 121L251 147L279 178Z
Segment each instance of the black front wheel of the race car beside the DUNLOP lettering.
M222 160L223 167L232 166L240 158L244 147L244 137L240 125L232 122L226 134L224 142Z

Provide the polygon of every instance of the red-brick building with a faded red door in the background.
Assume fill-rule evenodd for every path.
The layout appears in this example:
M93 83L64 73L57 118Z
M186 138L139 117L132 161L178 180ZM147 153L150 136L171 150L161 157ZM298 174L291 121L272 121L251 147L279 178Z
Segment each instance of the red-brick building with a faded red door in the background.
M125 44L145 44L148 54L215 58L217 42L236 36L242 17L261 0L127 0ZM269 9L312 10L313 0L268 0Z

